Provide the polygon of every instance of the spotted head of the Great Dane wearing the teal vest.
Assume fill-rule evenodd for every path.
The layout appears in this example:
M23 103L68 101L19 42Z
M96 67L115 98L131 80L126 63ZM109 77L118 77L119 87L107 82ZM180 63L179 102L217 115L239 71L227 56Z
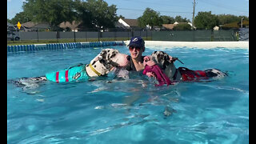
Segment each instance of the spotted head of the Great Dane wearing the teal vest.
M118 50L103 49L90 64L101 75L108 74L114 67L127 66L129 61L127 60L127 54L121 54Z

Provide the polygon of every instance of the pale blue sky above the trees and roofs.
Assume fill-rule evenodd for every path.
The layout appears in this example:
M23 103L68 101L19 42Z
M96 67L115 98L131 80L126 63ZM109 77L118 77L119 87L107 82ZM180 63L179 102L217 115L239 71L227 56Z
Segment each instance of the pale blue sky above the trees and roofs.
M7 18L23 11L25 0L7 0ZM142 16L146 7L158 11L161 15L192 20L194 0L105 0L110 5L116 5L117 14L125 18ZM249 0L196 0L195 16L199 11L211 11L212 14L234 14L249 16Z

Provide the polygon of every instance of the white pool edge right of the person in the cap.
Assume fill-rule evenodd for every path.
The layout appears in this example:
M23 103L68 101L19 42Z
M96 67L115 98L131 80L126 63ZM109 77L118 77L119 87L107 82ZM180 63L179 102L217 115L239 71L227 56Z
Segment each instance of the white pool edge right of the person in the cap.
M197 48L242 48L249 49L249 41L238 42L170 42L170 41L145 41L145 46L166 47L197 47Z

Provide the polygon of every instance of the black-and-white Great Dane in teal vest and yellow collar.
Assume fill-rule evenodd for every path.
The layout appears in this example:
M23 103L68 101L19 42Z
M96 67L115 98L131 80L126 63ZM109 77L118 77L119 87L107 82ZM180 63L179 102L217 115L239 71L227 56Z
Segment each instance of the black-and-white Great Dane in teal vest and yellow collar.
M79 80L89 80L94 77L106 76L114 67L127 66L129 61L126 54L121 54L118 50L103 49L90 64L78 64L64 70L47 73L45 76L33 78L18 78L9 80L16 86L25 89L34 89L43 82L74 82Z

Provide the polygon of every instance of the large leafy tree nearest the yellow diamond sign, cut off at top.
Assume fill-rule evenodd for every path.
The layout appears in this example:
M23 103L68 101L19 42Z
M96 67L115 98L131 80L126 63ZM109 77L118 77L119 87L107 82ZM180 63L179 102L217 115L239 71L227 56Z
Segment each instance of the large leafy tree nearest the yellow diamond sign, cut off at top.
M72 0L26 0L22 8L32 22L48 22L52 30L75 16Z

